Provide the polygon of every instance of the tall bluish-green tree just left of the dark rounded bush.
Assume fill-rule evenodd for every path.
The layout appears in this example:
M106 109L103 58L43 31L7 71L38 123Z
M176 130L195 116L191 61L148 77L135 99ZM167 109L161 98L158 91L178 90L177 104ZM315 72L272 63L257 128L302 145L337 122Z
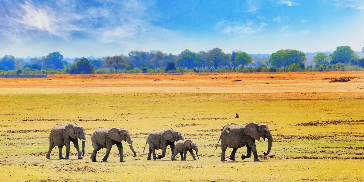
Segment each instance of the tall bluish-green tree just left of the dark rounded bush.
M61 55L59 52L52 52L47 56L42 57L42 67L44 69L64 69L64 64L67 64L67 62L63 60L63 55Z

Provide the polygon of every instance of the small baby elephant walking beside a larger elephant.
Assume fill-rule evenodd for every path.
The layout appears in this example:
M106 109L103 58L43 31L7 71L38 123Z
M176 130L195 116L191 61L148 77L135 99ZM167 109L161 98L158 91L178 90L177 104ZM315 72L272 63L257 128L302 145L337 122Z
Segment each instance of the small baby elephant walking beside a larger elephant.
M176 143L176 146L174 148L174 154L171 157L171 160L173 161L175 159L176 155L179 153L179 154L181 154L181 161L186 161L186 154L187 154L187 151L189 151L193 157L193 160L195 161L196 158L195 158L195 155L193 155L192 150L196 151L196 156L198 158L197 144L190 140L186 140L186 141L180 140Z

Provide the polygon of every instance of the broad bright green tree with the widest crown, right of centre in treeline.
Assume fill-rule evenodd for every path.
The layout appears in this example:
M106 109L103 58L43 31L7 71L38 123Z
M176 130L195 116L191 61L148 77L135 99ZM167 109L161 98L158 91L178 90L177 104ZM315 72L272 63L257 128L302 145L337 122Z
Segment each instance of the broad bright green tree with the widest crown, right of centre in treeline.
M280 50L274 52L269 58L272 66L277 68L287 67L293 63L304 63L305 61L305 53L297 50Z

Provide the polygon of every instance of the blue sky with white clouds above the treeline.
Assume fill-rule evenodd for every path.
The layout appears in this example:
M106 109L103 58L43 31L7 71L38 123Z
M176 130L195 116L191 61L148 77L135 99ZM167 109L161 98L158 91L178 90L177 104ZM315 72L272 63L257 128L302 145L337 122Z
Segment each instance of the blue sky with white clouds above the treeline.
M0 0L0 57L364 46L364 0Z

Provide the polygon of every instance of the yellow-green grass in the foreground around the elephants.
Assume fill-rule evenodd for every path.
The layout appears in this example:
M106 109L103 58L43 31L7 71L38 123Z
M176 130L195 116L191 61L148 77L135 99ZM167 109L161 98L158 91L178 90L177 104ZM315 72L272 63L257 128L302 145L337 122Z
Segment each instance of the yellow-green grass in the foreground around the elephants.
M360 93L3 95L0 107L3 181L360 181L364 174L364 94ZM297 125L317 120L318 126ZM202 130L250 121L269 125L274 139L271 153L260 156L262 162L253 162L253 157L243 161L244 147L238 150L237 161L220 162L220 147L213 153L220 132ZM137 157L132 158L123 145L127 162L120 163L114 146L109 162L92 163L92 145L86 143L81 160L72 145L70 160L59 160L58 149L49 160L45 157L49 131L13 132L50 130L57 123L71 122L84 126L89 141L97 127L127 128ZM187 161L170 161L168 149L162 160L146 161L142 151L147 133L163 128L193 139L200 158L191 161L187 155ZM267 146L267 141L257 141L258 155ZM99 151L99 161L105 151Z

